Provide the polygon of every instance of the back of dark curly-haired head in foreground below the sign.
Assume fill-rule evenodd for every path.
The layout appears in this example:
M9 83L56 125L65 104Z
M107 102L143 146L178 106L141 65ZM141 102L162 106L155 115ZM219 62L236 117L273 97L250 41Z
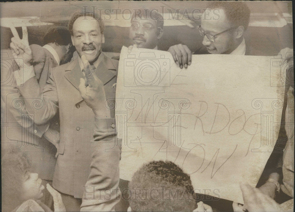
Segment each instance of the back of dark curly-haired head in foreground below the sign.
M170 161L142 165L129 183L132 211L193 211L190 176Z

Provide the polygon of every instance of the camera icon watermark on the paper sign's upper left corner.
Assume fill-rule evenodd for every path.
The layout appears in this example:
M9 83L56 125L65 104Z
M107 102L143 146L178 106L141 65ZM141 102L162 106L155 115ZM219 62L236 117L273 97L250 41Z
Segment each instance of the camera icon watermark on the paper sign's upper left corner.
M169 87L170 83L170 59L165 55L140 52L138 57L129 54L124 59L125 87Z

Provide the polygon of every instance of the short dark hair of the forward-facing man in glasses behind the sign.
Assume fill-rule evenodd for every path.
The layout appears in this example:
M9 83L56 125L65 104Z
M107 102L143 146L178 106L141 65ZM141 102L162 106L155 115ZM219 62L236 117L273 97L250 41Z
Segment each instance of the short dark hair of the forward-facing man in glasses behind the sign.
M158 13L155 9L135 9L132 14L131 22L136 19L152 19L157 23L157 27L163 29L164 27L164 19L163 16ZM159 33L159 32L158 32Z

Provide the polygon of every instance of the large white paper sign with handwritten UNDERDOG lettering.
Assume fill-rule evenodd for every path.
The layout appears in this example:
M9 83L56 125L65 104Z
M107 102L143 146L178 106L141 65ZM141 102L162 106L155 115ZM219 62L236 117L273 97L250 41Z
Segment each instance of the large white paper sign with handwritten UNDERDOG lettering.
M256 186L281 123L284 80L273 60L193 55L180 69L169 52L123 47L109 105L122 138L120 178L170 160L196 193L243 203L239 182Z

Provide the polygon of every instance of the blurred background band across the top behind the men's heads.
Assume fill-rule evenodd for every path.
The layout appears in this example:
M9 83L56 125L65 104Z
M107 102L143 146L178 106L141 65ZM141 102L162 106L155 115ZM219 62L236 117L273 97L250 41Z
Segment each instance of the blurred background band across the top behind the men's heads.
M238 3L237 3L238 4ZM250 45L272 56L285 47L293 48L293 23L291 1L246 2L251 11L250 25L245 39ZM120 52L129 46L129 26L135 9L157 9L164 17L164 34L158 45L168 50L175 44L185 44L192 51L202 46L202 38L196 29L200 24L204 1L59 1L59 2L5 2L0 3L1 49L9 48L12 33L7 23L28 20L29 43L42 45L42 37L51 26L67 25L71 14L78 9L95 10L105 22L104 52ZM18 19L14 19L18 18ZM21 27L17 27L21 36Z

